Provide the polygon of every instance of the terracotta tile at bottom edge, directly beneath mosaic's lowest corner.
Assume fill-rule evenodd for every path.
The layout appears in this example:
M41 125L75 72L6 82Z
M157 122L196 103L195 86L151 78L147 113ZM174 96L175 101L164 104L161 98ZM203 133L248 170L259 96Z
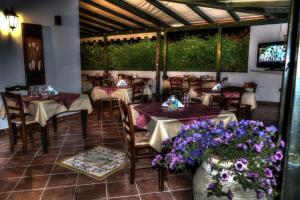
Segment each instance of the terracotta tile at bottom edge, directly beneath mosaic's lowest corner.
M106 198L106 185L93 184L77 186L75 199L76 200L92 200Z

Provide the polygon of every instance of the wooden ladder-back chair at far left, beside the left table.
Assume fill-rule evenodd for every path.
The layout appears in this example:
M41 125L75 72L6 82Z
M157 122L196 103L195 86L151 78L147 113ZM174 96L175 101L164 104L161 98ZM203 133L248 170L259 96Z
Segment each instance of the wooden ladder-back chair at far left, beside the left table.
M17 132L20 132L20 137L23 143L23 152L27 152L27 135L28 131L33 126L39 125L34 121L33 116L24 113L24 105L20 94L1 93L5 112L9 126L10 150L14 150L14 145L17 144ZM47 128L40 127L42 134L42 144L44 152L47 152Z

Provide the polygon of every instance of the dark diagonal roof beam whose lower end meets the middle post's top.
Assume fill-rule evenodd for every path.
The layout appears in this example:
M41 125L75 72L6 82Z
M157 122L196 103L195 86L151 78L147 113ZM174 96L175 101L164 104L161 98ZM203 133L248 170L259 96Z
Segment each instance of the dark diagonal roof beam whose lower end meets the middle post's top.
M114 4L115 6L118 6L119 8L122 8L123 10L131 12L132 14L137 15L140 18L143 18L144 20L149 21L159 27L168 27L169 26L165 22L158 20L157 18L153 17L152 15L134 7L133 5L127 3L123 0L107 0L107 1L111 4Z

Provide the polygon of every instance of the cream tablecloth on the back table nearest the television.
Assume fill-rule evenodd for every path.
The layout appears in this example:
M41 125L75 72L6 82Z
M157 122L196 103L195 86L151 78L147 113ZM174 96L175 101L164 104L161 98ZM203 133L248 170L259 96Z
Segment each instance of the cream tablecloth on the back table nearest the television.
M193 89L190 89L189 95L191 98L199 98L202 101L203 105L208 106L211 101L212 93L203 93L200 97L198 97L198 93ZM257 108L256 95L253 92L245 92L243 93L241 104L250 105L251 110Z

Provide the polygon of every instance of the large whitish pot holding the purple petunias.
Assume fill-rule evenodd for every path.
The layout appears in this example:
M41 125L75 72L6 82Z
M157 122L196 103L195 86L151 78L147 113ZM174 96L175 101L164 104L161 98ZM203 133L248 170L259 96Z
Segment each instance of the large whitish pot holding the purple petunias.
M212 163L214 163L215 165L218 165L218 161L216 159L213 159ZM230 163L226 164L226 165L222 165L222 168L228 168L228 165L230 165ZM231 163L232 165L232 163ZM213 200L213 199L226 199L228 200L227 196L222 196L222 197L217 197L217 196L210 196L207 197L207 187L208 185L213 182L212 181L212 175L214 173L216 173L215 170L211 170L212 164L208 163L208 162L203 162L201 166L199 166L199 168L197 169L194 178L193 178L193 195L194 195L194 200ZM230 171L229 171L230 172ZM226 182L222 182L223 185L223 191L227 192L229 189L232 191L233 193L233 199L234 200L250 200L250 199L257 199L256 197L256 192L254 190L246 190L244 191L244 189L240 186L240 184L236 181L234 181L231 178L229 178L228 181Z

